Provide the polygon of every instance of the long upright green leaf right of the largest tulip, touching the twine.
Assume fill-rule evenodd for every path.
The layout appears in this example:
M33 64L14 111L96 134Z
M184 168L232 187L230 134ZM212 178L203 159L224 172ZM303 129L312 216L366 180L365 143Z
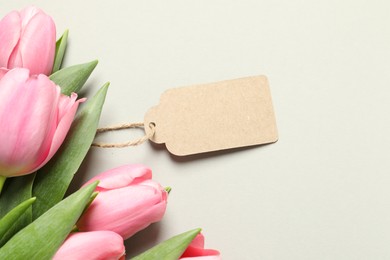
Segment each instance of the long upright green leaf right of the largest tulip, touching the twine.
M60 149L38 170L32 192L37 197L32 209L33 219L37 219L64 197L95 137L108 86L109 83L106 83L78 111Z

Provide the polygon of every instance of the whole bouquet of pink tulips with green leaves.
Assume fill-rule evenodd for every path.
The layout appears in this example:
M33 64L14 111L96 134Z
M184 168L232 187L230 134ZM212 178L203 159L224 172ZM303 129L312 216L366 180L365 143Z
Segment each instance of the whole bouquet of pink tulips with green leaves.
M52 18L35 7L0 21L0 259L124 259L123 240L166 210L170 188L142 165L99 174L64 198L109 85L78 98L97 61L62 68L67 38L56 41ZM189 258L221 259L200 229L134 259Z

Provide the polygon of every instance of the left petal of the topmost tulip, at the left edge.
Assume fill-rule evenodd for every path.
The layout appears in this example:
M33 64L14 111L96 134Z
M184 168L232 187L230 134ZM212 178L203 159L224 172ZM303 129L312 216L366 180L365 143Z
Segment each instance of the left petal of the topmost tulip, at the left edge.
M21 19L14 11L0 21L0 67L8 67L9 57L18 44L21 33Z

